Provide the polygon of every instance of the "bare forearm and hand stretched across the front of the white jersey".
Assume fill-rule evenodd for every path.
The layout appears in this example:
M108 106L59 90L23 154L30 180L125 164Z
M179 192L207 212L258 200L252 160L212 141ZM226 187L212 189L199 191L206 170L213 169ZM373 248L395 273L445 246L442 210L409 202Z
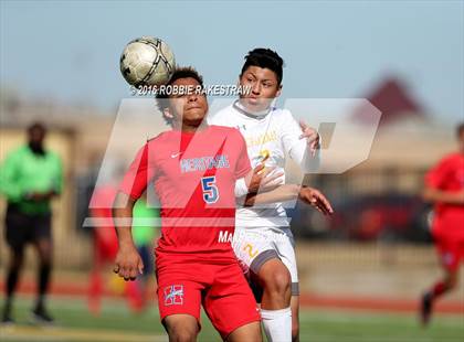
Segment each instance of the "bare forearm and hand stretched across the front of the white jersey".
M314 206L324 215L330 215L334 213L330 202L323 193L320 193L320 191L314 188L296 184L284 184L268 192L251 194L246 197L245 205L251 206L254 204L284 202L294 200L295 197L298 197L298 200Z

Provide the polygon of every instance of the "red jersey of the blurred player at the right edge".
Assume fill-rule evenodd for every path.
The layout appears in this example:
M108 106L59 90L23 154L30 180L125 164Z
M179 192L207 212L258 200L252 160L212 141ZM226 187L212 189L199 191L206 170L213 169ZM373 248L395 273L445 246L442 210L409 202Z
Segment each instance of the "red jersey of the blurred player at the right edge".
M425 183L449 192L464 190L464 154L452 153L429 171ZM464 239L464 205L437 203L434 207L433 234Z

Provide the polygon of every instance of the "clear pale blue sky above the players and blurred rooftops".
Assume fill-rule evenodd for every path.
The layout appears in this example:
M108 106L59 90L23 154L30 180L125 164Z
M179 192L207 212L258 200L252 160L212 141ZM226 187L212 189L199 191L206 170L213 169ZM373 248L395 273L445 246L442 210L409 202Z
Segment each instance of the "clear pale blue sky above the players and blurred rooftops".
M464 1L4 1L0 86L115 111L127 42L152 35L207 84L234 84L253 47L285 60L286 98L363 97L400 77L425 110L464 118Z

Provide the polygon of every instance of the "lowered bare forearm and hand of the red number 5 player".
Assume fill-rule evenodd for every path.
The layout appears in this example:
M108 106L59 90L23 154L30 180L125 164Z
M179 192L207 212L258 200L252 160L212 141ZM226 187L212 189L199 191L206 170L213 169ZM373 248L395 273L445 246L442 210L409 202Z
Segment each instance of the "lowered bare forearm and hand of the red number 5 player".
M115 259L115 274L124 280L135 280L138 274L144 272L144 263L137 252L131 234L131 217L135 201L125 193L119 192L115 200L113 216L119 248Z

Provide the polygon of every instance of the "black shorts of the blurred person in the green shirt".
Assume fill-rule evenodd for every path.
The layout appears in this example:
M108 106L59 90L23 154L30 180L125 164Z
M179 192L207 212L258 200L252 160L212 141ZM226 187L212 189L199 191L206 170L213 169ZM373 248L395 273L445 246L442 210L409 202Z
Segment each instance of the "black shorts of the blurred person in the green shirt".
M11 248L22 248L27 243L52 238L51 213L30 215L9 204L6 215L6 239Z

